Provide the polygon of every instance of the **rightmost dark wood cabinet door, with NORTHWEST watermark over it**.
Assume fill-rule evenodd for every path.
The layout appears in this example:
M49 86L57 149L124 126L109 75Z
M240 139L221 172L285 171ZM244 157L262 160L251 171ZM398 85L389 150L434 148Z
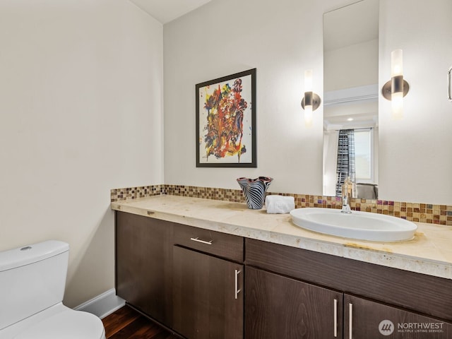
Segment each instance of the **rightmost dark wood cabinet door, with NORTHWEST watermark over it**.
M449 339L452 323L345 295L346 339Z

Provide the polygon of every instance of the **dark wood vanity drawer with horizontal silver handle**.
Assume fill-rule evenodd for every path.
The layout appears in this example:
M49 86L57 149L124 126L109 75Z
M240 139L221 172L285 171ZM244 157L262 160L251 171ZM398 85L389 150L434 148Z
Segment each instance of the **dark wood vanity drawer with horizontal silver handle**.
M186 225L174 225L174 244L240 263L244 259L244 239L237 235Z

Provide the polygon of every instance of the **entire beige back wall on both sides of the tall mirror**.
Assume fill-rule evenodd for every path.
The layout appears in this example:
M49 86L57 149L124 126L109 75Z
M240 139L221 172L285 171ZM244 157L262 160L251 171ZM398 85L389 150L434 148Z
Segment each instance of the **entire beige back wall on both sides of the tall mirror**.
M306 129L303 72L323 96L323 13L354 1L212 1L164 26L165 184L237 189L237 177L274 178L270 191L322 194L322 107ZM411 90L405 119L379 100L379 185L383 200L452 203L450 0L381 0L379 85L390 53L404 49ZM257 169L195 167L196 83L257 68ZM180 170L184 164L184 170Z

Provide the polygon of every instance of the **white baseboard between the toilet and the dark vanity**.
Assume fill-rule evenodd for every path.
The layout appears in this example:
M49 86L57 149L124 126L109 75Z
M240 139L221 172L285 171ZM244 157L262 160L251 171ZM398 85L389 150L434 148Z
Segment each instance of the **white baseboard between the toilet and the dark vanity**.
M97 297L88 300L88 302L78 305L78 307L74 309L76 311L85 311L95 314L100 319L103 319L117 309L123 307L124 304L126 304L124 299L118 297L116 295L116 290L112 288L111 290L102 293L102 295L98 295Z

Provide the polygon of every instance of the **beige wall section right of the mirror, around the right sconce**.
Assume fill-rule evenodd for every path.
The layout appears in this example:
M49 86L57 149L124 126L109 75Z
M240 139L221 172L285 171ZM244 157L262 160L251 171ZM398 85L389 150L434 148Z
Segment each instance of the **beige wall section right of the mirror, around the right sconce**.
M391 102L380 97L379 194L394 201L452 204L452 1L380 0L381 85L391 78L391 51L403 49L410 83L403 120L391 119Z

